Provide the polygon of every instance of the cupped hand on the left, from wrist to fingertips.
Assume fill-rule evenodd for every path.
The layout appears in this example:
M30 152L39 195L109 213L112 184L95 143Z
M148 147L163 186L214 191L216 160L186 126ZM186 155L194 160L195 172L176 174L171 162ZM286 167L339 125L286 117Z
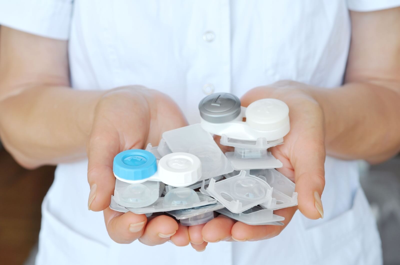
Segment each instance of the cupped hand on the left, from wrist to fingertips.
M104 211L108 234L117 243L138 239L146 245L169 240L177 246L189 244L188 228L172 217L159 215L147 219L144 214L120 213L109 207L115 186L114 156L128 149L143 149L147 143L156 146L162 132L186 125L178 106L156 90L120 87L106 92L98 101L87 145L88 208Z

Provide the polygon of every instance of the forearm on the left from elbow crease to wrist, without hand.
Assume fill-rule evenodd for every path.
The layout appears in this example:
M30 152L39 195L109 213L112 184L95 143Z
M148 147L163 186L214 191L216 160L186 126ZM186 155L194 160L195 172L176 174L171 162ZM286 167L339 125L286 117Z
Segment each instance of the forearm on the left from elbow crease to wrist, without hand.
M0 101L0 136L25 167L86 156L86 141L101 91L32 86Z

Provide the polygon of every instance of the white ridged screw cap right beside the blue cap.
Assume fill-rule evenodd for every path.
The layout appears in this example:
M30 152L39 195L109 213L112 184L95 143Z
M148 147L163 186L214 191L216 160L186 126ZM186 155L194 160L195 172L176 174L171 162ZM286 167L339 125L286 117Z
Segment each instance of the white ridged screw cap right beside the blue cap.
M200 159L189 153L165 155L158 162L158 175L164 183L174 187L185 187L200 179Z

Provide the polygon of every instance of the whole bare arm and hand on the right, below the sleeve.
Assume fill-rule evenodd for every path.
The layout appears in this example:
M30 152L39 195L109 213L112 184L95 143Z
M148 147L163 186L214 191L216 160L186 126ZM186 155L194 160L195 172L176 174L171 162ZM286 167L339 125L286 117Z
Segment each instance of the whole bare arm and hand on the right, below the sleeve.
M278 170L296 183L298 209L311 219L324 215L320 196L325 151L375 163L400 150L400 8L352 12L351 18L352 43L343 86L326 89L281 81L242 97L245 106L268 97L288 104L290 132L284 145L271 151L283 163ZM285 217L285 225L271 227L216 217L204 226L202 235L208 242L274 237L295 211L295 207L274 211Z

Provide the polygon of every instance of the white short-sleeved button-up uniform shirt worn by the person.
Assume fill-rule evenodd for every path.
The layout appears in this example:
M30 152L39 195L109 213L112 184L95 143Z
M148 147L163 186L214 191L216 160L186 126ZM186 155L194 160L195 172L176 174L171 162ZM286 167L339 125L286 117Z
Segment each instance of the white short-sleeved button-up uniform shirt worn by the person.
M342 84L350 43L348 10L400 0L133 1L0 0L0 24L69 40L72 86L140 84L178 103L190 123L212 92L242 96L278 80ZM87 161L58 165L42 205L37 264L380 264L380 239L357 164L328 157L324 219L297 212L284 231L257 242L114 243L102 213L87 210ZM268 228L267 228L268 229Z

